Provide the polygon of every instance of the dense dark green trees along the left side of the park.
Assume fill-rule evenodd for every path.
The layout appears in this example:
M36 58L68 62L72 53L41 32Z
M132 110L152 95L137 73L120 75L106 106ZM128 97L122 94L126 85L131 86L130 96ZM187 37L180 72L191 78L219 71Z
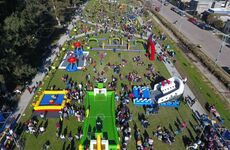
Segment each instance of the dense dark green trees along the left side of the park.
M14 89L36 74L47 38L85 0L0 0L0 84ZM0 89L1 91L1 89Z

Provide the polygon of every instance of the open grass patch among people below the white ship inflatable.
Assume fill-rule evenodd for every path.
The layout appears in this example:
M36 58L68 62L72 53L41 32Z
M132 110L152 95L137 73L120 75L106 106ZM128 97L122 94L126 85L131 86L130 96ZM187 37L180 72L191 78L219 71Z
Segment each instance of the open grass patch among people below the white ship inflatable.
M139 129L141 129L141 133L144 134L145 129L141 126L140 121L138 121L138 113L144 113L144 110L142 107L136 107L132 103L129 104L129 108L131 112L133 113L133 120L132 124L130 124L131 127L136 124ZM162 141L159 141L156 137L154 137L154 148L155 149L162 149L162 150L184 150L185 145L182 140L182 136L186 135L187 137L191 139L195 139L196 135L194 133L194 127L197 125L197 122L194 120L193 116L191 115L192 112L190 108L185 105L184 103L181 103L179 110L175 110L174 108L166 108L161 107L160 111L156 115L149 115L147 116L149 123L151 124L150 127L146 130L150 137L153 136L153 131L156 131L156 127L158 125L161 125L167 129L170 130L170 126L172 128L171 131L175 132L177 130L176 124L179 122L185 121L187 123L187 129L184 130L184 132L178 136L176 136L175 142L172 143L172 145L165 144ZM132 138L131 142L128 143L128 149L132 150L136 148L136 145L134 144L134 131L132 130Z

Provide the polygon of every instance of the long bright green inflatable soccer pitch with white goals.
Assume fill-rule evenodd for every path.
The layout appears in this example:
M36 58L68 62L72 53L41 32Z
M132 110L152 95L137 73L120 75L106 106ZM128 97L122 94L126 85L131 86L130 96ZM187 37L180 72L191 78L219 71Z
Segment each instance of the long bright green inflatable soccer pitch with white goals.
M107 91L102 83L86 95L86 118L79 150L120 150L115 125L114 91Z

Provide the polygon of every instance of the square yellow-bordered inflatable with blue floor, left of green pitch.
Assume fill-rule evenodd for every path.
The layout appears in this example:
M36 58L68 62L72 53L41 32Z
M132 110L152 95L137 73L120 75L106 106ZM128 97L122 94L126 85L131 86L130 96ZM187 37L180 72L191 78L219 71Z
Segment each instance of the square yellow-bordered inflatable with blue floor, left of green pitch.
M66 97L67 91L43 91L38 100L33 104L35 112L60 111L65 104L70 102Z

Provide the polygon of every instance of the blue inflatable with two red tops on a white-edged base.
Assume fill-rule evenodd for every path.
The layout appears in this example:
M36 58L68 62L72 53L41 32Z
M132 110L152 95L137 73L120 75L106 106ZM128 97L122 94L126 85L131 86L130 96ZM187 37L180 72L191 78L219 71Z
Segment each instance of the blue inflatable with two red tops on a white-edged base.
M80 42L73 43L74 50L66 51L59 69L66 69L68 72L82 70L86 66L86 57L89 52L84 51Z

